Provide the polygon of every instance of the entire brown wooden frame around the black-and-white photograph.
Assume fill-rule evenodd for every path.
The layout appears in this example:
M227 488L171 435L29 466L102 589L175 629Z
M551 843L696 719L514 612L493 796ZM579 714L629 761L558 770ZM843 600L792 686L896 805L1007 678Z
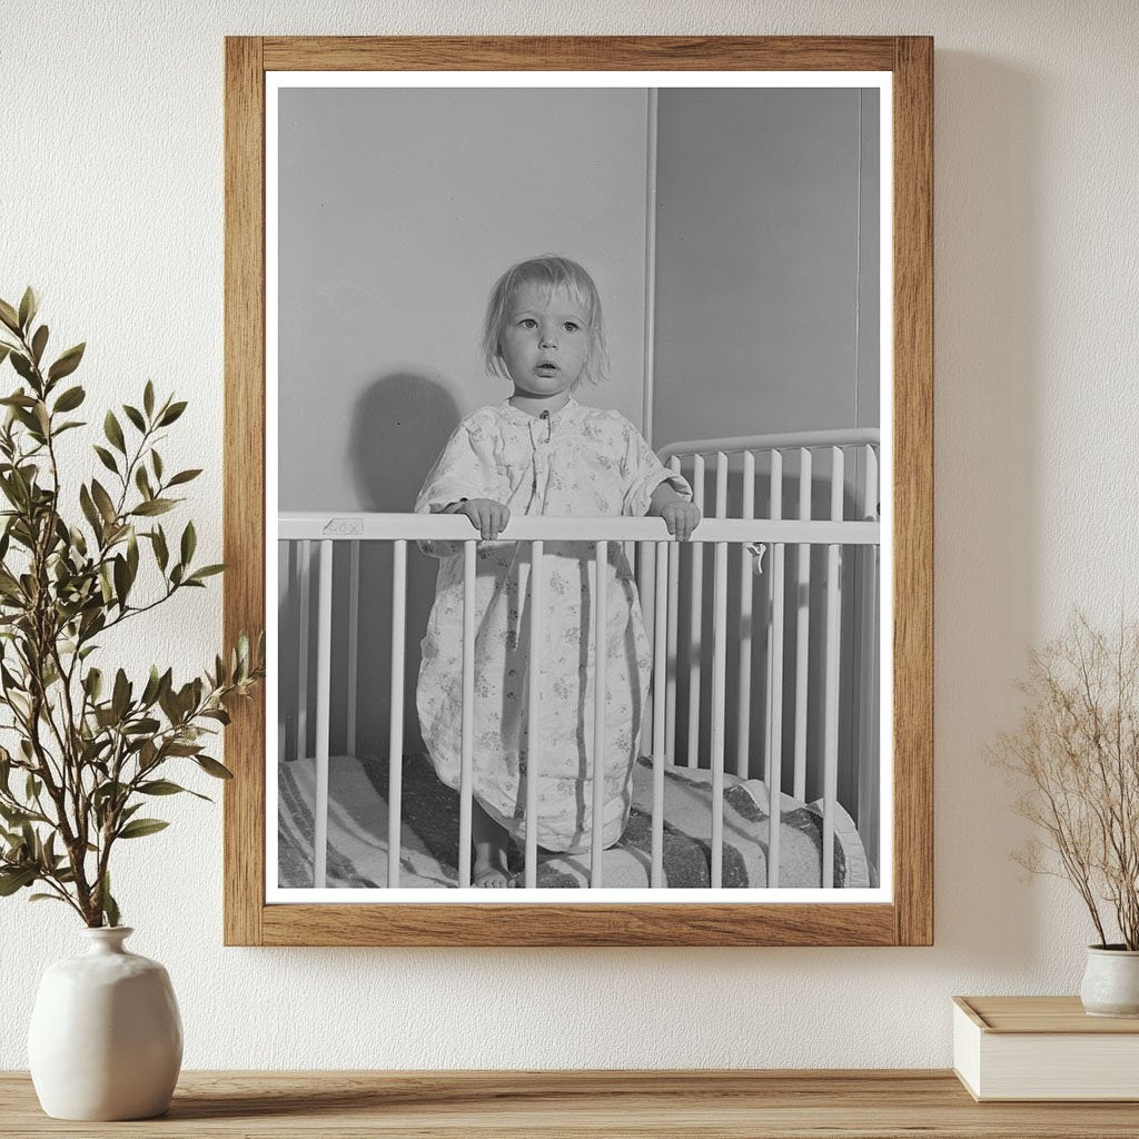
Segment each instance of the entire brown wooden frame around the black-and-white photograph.
M235 779L224 798L226 944L932 944L932 39L227 39L227 642L265 624L265 75L277 71L892 73L893 896L884 903L802 904L269 904L265 706L259 697L236 711L227 730L226 762Z

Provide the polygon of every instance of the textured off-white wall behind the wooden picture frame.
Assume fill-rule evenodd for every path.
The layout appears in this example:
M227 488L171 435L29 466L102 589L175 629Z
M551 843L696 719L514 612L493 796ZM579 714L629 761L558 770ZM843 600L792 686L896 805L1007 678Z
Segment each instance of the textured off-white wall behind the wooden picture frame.
M1022 833L985 747L1029 644L1071 607L1136 612L1139 48L1128 0L685 0L522 6L9 0L0 39L0 295L24 282L98 405L147 376L192 395L167 459L220 547L226 33L933 34L936 191L936 939L871 950L267 950L221 947L221 823L124 850L136 948L163 960L190 1067L923 1066L949 997L1073 992L1088 923L1006 858ZM200 460L200 461L199 461ZM220 591L148 648L212 658ZM59 908L0 902L0 1067Z

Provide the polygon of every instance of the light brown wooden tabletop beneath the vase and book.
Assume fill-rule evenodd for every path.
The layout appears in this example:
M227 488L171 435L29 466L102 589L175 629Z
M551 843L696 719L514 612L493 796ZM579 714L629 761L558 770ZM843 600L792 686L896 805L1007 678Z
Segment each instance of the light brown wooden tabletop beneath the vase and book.
M1134 1139L1134 1104L977 1104L949 1072L186 1072L167 1115L49 1120L0 1073L7 1139Z

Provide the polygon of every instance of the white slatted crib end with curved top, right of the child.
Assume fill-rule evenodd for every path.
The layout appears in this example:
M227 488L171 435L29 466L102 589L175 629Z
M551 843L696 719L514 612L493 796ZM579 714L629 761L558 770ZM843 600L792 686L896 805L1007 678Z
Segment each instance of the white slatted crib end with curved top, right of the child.
M735 437L687 440L670 443L657 453L663 462L677 474L688 475L693 485L695 500L707 515L716 522L727 519L728 515L738 511L740 518L765 517L771 522L784 518L785 509L789 509L800 522L812 522L817 505L816 481L822 477L826 491L826 505L822 506L826 518L841 524L844 533L853 533L860 523L877 523L878 510L878 446L879 431L876 427L838 428L830 431L780 432L762 435L741 435ZM785 469L786 468L786 469ZM794 481L787 477L788 472ZM706 483L714 474L714 503L705 507ZM756 501L756 476L768 485L767 501ZM736 495L729 495L729 487L737 490ZM847 505L847 493L853 501ZM785 505L785 498L790 502ZM851 517L851 523L844 519ZM762 661L767 670L764 690L767 703L763 710L763 748L764 781L768 785L772 802L778 801L782 788L782 741L785 693L794 708L789 732L793 759L789 773L792 793L796 800L806 797L808 785L808 707L810 702L811 674L811 547L808 541L789 540L794 555L793 580L787 579L787 542L773 542L771 546L770 573L767 577L767 620L765 645L762 649ZM857 544L853 539L844 540L843 544ZM874 543L877 546L877 542ZM741 574L747 572L748 554L741 554ZM654 567L652 558L644 558L639 566L638 583L642 595L652 599L654 589ZM673 564L673 580L670 583L673 591L678 587L677 564ZM693 563L689 575L689 613L697 614L703 605L703 559ZM828 822L823 829L823 885L831 885L834 827L829 817L834 812L837 798L838 773L838 663L842 652L841 626L844 620L843 607L850 607L847 620L855 632L852 638L857 646L857 663L852 662L852 671L860 678L859 690L853 698L858 703L857 722L859 738L852 740L846 752L852 759L847 763L857 765L858 788L852 804L863 842L876 845L878 830L877 804L877 765L870 762L875 752L876 716L878 686L876 682L876 622L878 616L877 590L878 565L877 550L867 551L866 556L853 566L853 597L843 599L841 589L841 555L837 543L828 544L825 567L826 599L825 630L826 640L822 661L825 677L822 679L825 708L823 718L823 804ZM789 593L785 596L785 591ZM788 620L788 601L792 613ZM719 612L719 598L716 599ZM753 700L752 657L753 657L753 617L752 598L749 593L740 597L739 636L737 638L738 655L736 672L738 678L735 691L736 703L736 770L745 775L751 761L751 721ZM719 618L713 629L719 628ZM688 661L688 762L695 763L698 739L700 738L700 667L702 667L702 622L690 622L690 637L687 644L681 642ZM670 658L677 659L678 629L667 630ZM786 659L785 659L786 658ZM794 679L788 678L785 686L785 666L793 665ZM667 703L666 721L671 726L675 720L675 683L679 666L670 673L665 700ZM654 693L654 698L656 694ZM721 705L713 702L713 716ZM713 740L716 735L716 723L713 719ZM666 729L669 730L669 729ZM722 731L722 728L721 728ZM674 741L670 738L669 751ZM769 850L769 859L773 866L775 883L778 884L778 835L772 835L776 844Z

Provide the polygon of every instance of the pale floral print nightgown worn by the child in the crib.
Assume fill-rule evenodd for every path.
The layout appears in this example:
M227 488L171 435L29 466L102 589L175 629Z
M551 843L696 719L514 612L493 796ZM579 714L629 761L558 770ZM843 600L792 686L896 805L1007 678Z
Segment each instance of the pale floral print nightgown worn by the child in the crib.
M616 411L571 399L549 417L503 401L468 416L427 476L416 511L459 499L511 515L641 516L662 482L690 497ZM474 533L474 528L472 528ZM423 542L440 558L416 700L440 779L459 786L462 740L462 548ZM525 834L527 768L538 770L538 842L588 850L593 805L593 546L546 542L541 670L530 670L530 543L482 542L475 562L474 795L513 835ZM606 755L603 841L624 830L630 772L652 665L637 587L622 543L608 544ZM539 700L531 760L527 699Z

